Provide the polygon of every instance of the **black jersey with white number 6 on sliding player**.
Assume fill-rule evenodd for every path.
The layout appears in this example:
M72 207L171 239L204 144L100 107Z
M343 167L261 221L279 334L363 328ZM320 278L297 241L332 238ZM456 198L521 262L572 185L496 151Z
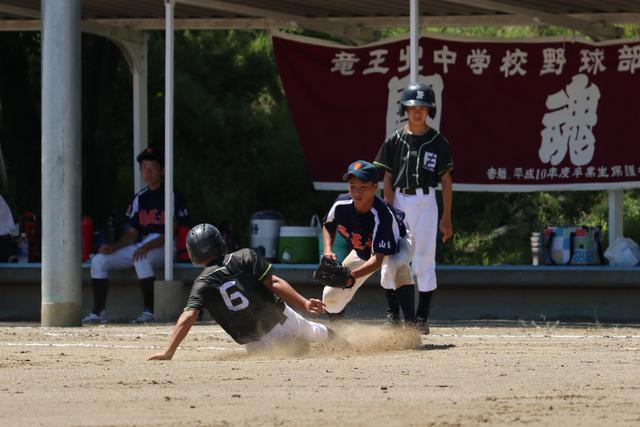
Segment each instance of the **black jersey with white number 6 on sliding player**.
M238 344L259 340L286 320L284 302L262 284L271 264L251 249L227 254L193 282L185 310L207 309Z

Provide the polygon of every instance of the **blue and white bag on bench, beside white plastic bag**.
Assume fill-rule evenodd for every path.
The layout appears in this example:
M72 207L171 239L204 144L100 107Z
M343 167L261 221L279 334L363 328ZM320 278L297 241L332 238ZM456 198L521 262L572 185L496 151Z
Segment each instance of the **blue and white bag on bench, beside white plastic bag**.
M600 227L546 227L543 235L545 265L604 264Z

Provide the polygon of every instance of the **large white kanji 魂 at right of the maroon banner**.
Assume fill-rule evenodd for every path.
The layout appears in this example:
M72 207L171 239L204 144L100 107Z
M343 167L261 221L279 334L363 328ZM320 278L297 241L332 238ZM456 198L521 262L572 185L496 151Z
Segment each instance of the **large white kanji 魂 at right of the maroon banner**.
M582 166L591 161L595 151L595 137L591 129L598 121L596 110L600 90L589 84L584 74L573 76L565 90L547 97L550 110L542 118L545 126L540 132L542 141L538 156L544 163L559 164L567 149L571 163Z

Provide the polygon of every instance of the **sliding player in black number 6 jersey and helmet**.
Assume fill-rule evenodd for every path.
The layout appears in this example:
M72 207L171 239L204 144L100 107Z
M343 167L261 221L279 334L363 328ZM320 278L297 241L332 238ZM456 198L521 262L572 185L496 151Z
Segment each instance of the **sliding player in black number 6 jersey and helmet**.
M325 325L310 322L289 307L320 314L324 312L320 300L300 295L273 275L271 264L251 249L227 253L227 245L213 225L193 227L187 235L187 251L191 261L204 270L193 282L166 349L149 360L171 359L204 309L249 353L336 338Z

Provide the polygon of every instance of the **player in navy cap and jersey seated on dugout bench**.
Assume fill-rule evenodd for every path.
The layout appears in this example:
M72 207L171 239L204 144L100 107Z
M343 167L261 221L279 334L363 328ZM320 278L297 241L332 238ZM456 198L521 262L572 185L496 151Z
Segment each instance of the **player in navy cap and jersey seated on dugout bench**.
M113 269L135 267L140 281L144 308L135 323L153 321L154 267L164 263L164 161L162 153L152 147L143 150L136 160L147 187L133 196L127 208L129 228L115 243L104 244L91 259L93 309L83 323L107 323L106 300L108 273ZM186 224L188 212L184 198L174 192L175 224Z

